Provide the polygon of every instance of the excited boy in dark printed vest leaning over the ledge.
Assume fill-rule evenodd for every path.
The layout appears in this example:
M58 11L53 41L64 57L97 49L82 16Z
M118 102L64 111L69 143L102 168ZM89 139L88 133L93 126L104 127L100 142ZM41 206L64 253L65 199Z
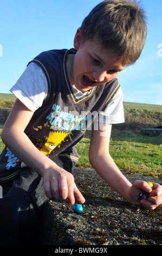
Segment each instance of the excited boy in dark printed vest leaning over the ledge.
M145 181L131 184L108 152L112 124L124 121L115 77L139 58L146 31L137 3L103 1L77 29L74 49L41 53L11 89L17 100L2 132L2 245L36 243L48 198L85 202L72 175L74 146L93 120L89 160L96 172L131 204L161 204L160 185L151 192ZM139 199L142 190L151 192L148 200Z

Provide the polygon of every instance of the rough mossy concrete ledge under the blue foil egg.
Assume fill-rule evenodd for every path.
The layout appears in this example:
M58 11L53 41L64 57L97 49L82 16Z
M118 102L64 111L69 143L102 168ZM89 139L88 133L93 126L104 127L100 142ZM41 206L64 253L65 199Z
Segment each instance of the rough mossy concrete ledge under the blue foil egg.
M154 181L152 176L125 175ZM147 210L131 205L112 190L94 169L75 168L74 177L86 203L75 214L67 200L44 206L40 245L162 245L162 206Z

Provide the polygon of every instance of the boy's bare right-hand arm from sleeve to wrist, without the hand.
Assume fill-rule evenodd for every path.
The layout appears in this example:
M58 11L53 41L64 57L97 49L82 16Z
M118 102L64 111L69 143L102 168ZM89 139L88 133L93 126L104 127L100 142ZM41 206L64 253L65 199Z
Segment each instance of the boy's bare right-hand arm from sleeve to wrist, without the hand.
M100 127L101 130L98 129L92 132L89 161L101 178L128 200L127 191L132 184L120 172L109 154L112 125L102 125L100 123Z

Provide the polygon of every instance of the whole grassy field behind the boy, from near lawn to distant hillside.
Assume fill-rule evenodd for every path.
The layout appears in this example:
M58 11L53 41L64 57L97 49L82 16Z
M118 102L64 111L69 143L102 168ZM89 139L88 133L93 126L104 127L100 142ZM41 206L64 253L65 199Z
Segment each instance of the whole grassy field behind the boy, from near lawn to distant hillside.
M15 101L12 94L0 94L0 109L10 109ZM143 136L141 127L158 125L162 120L162 106L124 102L125 124L114 125L110 153L121 170L162 179L162 137ZM0 125L0 135L3 125ZM76 145L80 159L77 167L91 167L88 150L91 131ZM4 144L0 138L0 152Z

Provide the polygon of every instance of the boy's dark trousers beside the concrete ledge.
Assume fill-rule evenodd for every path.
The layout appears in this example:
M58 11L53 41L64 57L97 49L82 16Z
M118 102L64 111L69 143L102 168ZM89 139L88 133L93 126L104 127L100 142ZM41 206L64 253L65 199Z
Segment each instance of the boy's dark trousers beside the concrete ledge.
M56 156L53 161L72 173L70 159ZM36 245L43 204L48 200L42 176L25 167L16 180L1 186L0 245Z

